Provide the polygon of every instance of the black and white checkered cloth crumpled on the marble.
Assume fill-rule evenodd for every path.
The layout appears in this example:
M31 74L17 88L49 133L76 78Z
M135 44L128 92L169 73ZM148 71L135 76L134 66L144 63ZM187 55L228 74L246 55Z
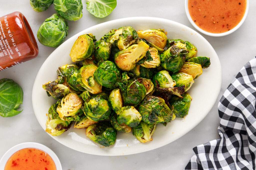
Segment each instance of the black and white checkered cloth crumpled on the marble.
M185 169L255 169L256 58L228 86L218 104L220 139L193 148Z

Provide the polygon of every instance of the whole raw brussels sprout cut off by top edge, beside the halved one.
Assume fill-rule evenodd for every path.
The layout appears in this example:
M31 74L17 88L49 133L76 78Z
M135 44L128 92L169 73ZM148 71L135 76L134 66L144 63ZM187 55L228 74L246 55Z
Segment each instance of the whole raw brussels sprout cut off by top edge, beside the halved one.
M69 21L76 21L83 16L82 0L54 0L55 11Z

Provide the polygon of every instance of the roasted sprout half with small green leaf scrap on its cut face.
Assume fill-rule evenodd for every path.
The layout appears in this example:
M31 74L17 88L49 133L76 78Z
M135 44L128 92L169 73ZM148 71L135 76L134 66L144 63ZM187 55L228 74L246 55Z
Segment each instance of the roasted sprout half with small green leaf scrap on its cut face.
M98 94L102 91L102 86L95 81L93 73L97 70L97 66L94 64L88 64L80 68L77 75L77 81L79 84L92 94Z

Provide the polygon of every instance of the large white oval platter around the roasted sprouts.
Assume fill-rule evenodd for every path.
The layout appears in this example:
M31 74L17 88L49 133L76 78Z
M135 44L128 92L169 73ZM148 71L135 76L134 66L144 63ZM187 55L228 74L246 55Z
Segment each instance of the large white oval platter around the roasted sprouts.
M157 125L152 141L140 143L132 133L118 132L115 145L102 147L86 137L85 129L73 127L60 136L51 136L69 148L95 155L128 155L156 149L178 139L193 129L204 119L216 102L221 86L221 66L216 52L204 37L183 24L167 19L152 17L123 18L101 23L79 32L55 49L42 64L33 86L32 102L36 118L43 129L46 129L46 113L56 100L46 95L45 90L42 89L42 84L56 80L58 67L72 63L69 53L77 37L85 33L93 33L99 40L109 30L124 25L130 25L135 30L162 28L168 32L168 38L180 38L193 43L198 49L198 56L209 56L211 58L211 66L204 69L204 73L195 80L188 91L193 97L188 115L184 119L177 118L171 123L167 123L166 127L162 124Z

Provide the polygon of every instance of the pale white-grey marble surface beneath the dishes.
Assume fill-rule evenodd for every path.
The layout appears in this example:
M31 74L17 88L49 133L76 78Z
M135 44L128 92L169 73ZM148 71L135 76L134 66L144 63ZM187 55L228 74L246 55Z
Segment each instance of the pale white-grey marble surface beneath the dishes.
M86 10L83 0L83 17L76 22L69 22L68 37L105 21L150 16L166 18L180 22L190 28L182 0L118 0L116 9L105 18L95 18ZM45 59L54 48L38 43L39 55L26 63L0 72L1 78L10 78L19 83L24 91L22 113L15 117L0 117L0 157L12 146L22 142L38 142L51 148L59 157L63 170L80 169L183 169L193 155L192 148L219 137L217 104L218 101L242 66L256 55L256 1L250 1L250 9L243 25L234 33L224 37L203 35L216 50L222 66L222 85L219 97L206 118L180 139L155 150L126 156L95 156L69 149L41 128L36 120L31 102L31 92L35 77ZM51 6L42 13L34 12L29 0L0 1L0 16L13 11L22 12L34 33L45 18L54 13ZM194 28L193 28L194 29ZM198 111L200 114L200 110Z

